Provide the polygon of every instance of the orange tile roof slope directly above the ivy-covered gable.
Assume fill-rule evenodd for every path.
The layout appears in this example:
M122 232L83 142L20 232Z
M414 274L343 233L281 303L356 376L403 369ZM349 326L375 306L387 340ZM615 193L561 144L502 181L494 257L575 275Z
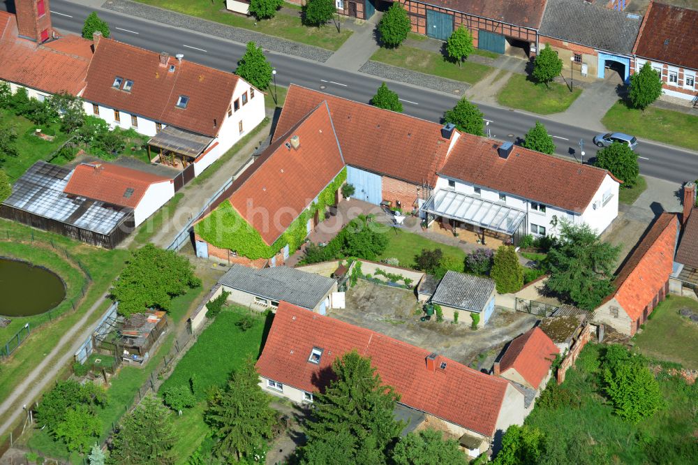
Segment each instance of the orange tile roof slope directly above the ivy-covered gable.
M286 146L294 135L298 149ZM320 103L235 180L230 203L272 245L343 168L327 104Z

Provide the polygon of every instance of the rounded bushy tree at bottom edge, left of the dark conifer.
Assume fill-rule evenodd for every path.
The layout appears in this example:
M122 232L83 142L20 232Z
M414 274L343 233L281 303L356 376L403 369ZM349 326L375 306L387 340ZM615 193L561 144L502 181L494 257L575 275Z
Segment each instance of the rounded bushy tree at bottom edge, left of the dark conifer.
M172 413L154 397L127 413L114 434L109 463L171 465L176 457L172 448L177 441Z

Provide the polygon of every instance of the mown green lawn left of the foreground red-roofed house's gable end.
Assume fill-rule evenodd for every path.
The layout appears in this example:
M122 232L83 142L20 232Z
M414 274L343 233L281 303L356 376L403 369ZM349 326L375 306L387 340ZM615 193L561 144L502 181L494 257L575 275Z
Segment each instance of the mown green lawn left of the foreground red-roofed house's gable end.
M161 386L162 393L172 386L188 385L189 378L196 374L197 383L201 387L195 392L199 403L184 411L181 417L174 417L174 429L178 437L175 452L182 462L209 434L209 428L203 420L206 408L205 389L225 385L230 373L239 368L246 357L251 356L256 360L259 356L265 318L259 313L253 313L255 324L247 331L240 330L235 324L242 316L249 314L242 307L228 307L221 311ZM271 324L271 320L268 324Z

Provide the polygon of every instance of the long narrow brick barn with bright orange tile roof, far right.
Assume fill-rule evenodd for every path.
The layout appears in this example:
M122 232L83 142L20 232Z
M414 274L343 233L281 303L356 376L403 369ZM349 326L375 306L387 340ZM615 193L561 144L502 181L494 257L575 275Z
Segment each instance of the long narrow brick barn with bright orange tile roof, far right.
M676 214L662 213L648 228L616 276L616 292L594 312L594 323L604 323L632 336L669 293L669 276L679 223Z

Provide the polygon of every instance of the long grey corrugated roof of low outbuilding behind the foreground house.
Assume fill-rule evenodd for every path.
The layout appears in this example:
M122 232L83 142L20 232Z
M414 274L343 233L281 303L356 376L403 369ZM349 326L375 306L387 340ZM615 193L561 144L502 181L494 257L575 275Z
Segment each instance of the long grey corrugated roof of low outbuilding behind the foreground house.
M245 293L269 300L283 300L310 310L325 298L327 291L335 283L334 279L295 268L271 267L257 270L242 265L232 265L218 282Z

